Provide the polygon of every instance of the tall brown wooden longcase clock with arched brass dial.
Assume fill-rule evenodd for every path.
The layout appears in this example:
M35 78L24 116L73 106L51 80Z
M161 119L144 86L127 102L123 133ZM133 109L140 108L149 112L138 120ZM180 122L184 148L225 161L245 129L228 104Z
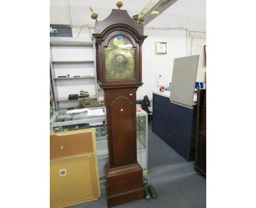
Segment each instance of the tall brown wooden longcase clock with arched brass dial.
M143 172L137 162L136 91L142 83L143 25L126 10L113 9L95 22L97 82L107 110L108 207L144 198Z

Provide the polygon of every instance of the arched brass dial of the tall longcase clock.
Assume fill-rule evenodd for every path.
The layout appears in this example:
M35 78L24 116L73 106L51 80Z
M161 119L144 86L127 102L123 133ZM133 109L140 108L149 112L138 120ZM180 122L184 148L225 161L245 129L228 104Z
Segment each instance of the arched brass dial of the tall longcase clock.
M135 78L135 48L126 36L114 36L104 52L106 80Z

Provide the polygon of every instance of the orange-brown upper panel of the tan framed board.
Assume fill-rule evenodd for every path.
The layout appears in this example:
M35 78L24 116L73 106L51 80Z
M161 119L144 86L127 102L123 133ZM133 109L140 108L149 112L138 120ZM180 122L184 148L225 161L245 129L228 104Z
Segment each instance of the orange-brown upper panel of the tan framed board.
M79 131L79 130L78 130ZM75 131L74 131L75 132ZM50 136L50 160L94 152L91 132Z

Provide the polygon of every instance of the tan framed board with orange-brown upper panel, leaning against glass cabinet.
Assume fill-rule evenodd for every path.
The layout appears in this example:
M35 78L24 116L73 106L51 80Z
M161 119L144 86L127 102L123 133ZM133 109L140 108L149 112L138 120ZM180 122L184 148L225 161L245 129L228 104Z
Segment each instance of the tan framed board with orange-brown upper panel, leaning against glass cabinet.
M95 129L50 135L50 207L67 207L100 197Z

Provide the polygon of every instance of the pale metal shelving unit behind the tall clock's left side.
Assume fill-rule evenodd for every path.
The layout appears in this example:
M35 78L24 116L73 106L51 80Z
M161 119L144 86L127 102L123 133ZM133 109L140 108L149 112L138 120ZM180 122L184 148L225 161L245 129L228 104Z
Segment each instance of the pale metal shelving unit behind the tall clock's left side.
M95 48L91 40L50 37L50 70L56 111L78 106L82 99L68 100L68 95L80 94L81 90L88 91L92 99L102 99L98 99L99 91L101 97L103 91L97 85Z

